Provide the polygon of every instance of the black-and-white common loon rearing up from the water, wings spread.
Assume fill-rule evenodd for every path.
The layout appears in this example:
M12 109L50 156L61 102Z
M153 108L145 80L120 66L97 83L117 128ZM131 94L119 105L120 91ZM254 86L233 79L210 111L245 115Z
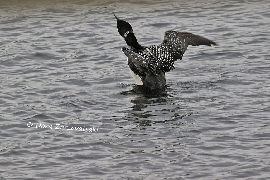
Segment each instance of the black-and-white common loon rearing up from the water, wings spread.
M141 46L130 24L117 19L119 34L125 39L127 47L122 47L127 56L130 73L137 83L150 90L162 89L166 85L165 72L174 69L174 61L182 59L188 45L215 45L216 43L201 36L168 30L163 42L158 46Z

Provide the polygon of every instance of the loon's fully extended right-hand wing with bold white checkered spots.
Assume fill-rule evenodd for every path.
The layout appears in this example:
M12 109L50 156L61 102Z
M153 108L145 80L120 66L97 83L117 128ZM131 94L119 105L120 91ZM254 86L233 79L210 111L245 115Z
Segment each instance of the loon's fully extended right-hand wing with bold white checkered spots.
M215 42L188 32L168 30L165 32L164 40L159 46L151 46L161 67L165 72L174 69L174 61L182 59L188 45L198 46L216 44Z

